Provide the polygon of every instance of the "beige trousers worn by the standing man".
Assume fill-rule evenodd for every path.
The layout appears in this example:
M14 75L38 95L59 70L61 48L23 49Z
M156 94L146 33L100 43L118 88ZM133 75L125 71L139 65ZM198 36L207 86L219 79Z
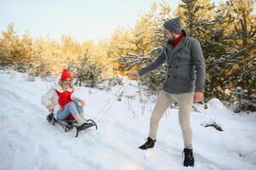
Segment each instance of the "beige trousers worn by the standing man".
M179 105L179 127L181 128L185 148L192 149L192 134L190 125L191 105L194 93L169 94L161 91L151 115L150 134L151 139L156 139L156 132L163 113L174 102Z

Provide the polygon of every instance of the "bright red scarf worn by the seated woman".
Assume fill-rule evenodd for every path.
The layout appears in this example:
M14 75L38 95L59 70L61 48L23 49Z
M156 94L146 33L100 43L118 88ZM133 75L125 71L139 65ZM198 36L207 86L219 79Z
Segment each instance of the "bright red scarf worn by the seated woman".
M73 94L74 90L71 91L71 92L65 91L65 92L62 92L62 93L58 92L57 90L55 90L55 91L56 91L56 94L59 96L58 102L61 106L61 110L63 111L65 105L72 101L71 94ZM68 119L69 120L74 120L74 117L72 116L72 114L70 114L68 116Z

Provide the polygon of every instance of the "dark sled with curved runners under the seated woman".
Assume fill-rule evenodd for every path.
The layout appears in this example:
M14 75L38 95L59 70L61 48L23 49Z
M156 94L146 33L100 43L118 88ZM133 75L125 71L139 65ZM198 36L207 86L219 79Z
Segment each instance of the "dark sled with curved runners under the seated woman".
M48 122L52 122L53 125L55 124L55 122L60 123L61 127L63 127L63 129L65 130L65 133L75 127L77 130L76 138L78 136L78 133L82 130L88 129L89 127L95 127L96 129L98 128L97 124L92 119L88 119L81 126L77 126L76 121L70 121L70 120L60 121L54 117L53 113L49 113L47 116L47 120L48 120Z

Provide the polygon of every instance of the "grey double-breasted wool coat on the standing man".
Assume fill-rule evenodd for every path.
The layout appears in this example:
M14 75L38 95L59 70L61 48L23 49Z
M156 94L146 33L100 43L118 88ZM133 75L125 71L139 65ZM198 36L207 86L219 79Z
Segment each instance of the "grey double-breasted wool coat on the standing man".
M183 31L185 33L185 31ZM193 37L183 37L175 46L165 44L162 53L150 64L141 68L139 76L168 63L162 90L171 94L203 92L205 85L205 61L200 43Z

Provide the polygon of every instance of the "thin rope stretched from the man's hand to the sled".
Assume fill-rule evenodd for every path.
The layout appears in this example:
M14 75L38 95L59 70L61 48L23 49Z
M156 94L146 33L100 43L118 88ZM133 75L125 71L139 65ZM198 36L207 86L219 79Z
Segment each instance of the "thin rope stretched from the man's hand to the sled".
M104 113L102 116L100 116L100 118L99 118L99 120L98 120L98 122L100 122L100 120L102 119L103 116L105 116L105 114L107 113L107 111L109 111L109 110L111 109L111 106L116 103L117 100L116 100L115 98L117 97L117 94L121 91L121 89L122 89L122 91L124 91L124 90L128 87L129 82L131 82L131 81L130 81L130 80L127 80L126 82L124 82L124 84L122 85L122 87L118 88L117 93L114 94L114 95L111 97L111 99L109 99L109 100L107 101L107 103L104 105L104 107L97 113L97 115L94 116L94 120L95 120L98 116L100 116L100 114L102 113L102 111L105 110L105 108L107 108L107 110L105 111L105 113ZM113 99L115 99L115 100L113 100ZM112 101L112 100L113 100L113 101Z

